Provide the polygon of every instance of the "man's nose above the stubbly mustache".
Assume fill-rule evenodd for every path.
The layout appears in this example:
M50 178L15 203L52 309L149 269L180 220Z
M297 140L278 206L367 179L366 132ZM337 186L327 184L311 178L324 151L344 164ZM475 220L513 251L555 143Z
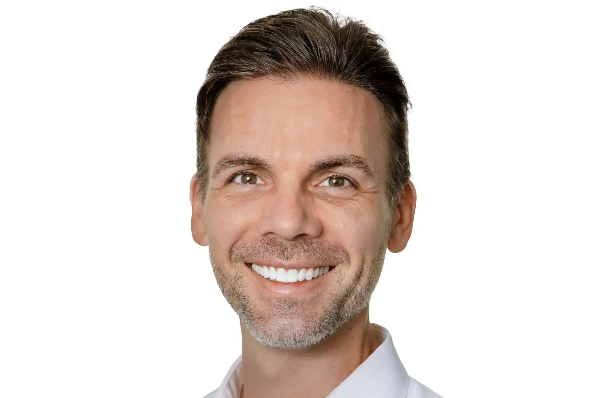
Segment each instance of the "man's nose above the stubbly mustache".
M258 224L261 236L277 235L286 241L293 241L320 235L322 225L315 216L314 201L303 189L286 187L276 189L267 196L267 209Z

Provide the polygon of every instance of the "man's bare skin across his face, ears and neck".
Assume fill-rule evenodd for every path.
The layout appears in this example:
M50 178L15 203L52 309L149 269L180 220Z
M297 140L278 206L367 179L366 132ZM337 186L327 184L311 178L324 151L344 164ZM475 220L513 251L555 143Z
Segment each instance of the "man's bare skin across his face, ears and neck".
M242 397L325 397L380 345L377 328L369 323L365 286L373 290L375 270L379 274L387 248L405 248L417 198L409 182L397 204L387 201L383 120L380 103L368 91L309 78L292 83L269 78L234 82L218 97L211 119L209 172L233 153L268 163L235 165L217 173L209 180L204 203L199 182L195 177L190 182L193 238L209 245L215 276L232 307L238 312L240 301L248 306L262 334L284 337L293 331L295 339L324 318L333 295L345 293L347 286L365 299L345 324L303 348L264 344L240 322ZM336 155L364 159L371 175L354 166L312 172L313 163ZM234 178L246 170L250 178L258 177L252 179L256 184L246 184L247 175ZM337 175L347 181L329 179ZM337 181L343 186L330 186ZM347 257L320 277L312 291L268 289L279 283L265 280L240 261L248 255L272 257L273 251L259 246L263 239L300 248L290 253L302 262L325 261L316 255L320 250L308 251L313 248L310 243L343 250ZM238 247L246 249L237 251ZM353 302L347 300L345 306Z

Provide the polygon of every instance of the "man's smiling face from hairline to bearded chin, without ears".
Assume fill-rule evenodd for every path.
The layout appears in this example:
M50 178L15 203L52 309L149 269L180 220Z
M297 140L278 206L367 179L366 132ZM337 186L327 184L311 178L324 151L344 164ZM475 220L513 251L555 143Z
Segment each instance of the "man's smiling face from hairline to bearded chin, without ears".
M381 112L368 91L306 78L239 81L218 97L193 217L259 342L314 345L367 307L392 216Z

